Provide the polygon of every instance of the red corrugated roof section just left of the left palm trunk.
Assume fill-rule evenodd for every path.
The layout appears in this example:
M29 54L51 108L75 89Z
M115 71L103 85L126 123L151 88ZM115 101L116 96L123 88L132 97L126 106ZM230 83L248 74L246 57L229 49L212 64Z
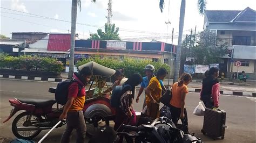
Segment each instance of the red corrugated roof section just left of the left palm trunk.
M68 51L70 49L70 34L50 34L48 51Z

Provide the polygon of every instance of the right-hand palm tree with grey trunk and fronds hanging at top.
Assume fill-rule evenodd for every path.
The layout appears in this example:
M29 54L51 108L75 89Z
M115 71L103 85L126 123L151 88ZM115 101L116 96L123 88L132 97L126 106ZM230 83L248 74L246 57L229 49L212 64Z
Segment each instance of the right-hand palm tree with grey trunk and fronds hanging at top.
M205 6L206 6L206 0L198 0L198 11L201 15L204 15ZM160 8L160 11L163 12L164 0L160 0L159 8ZM178 38L178 48L177 48L176 61L175 61L175 65L174 65L173 83L177 82L178 77L179 77L180 56L181 56L181 41L182 41L182 35L183 35L185 9L186 9L186 0L181 0L180 13L179 13L179 38Z

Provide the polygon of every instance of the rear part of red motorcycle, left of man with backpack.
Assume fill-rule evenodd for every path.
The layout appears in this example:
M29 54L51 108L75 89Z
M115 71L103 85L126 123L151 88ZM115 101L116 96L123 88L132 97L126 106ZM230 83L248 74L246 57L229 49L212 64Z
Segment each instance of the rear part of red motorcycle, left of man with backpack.
M52 108L55 100L44 99L9 99L11 106L10 116L3 123L11 119L18 111L25 110L20 113L14 121L12 121L12 133L17 138L32 139L35 138L42 130L49 130L59 121L63 108ZM62 122L57 127L63 126L66 122Z

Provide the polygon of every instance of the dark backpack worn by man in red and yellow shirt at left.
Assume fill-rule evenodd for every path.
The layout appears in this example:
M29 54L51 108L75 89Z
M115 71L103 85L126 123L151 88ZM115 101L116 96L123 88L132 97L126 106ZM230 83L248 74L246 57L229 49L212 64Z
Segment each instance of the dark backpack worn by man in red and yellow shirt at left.
M58 104L66 104L68 101L69 95L69 86L73 83L77 82L77 80L65 80L63 82L59 82L55 91L55 101ZM78 94L80 93L82 86L78 84Z

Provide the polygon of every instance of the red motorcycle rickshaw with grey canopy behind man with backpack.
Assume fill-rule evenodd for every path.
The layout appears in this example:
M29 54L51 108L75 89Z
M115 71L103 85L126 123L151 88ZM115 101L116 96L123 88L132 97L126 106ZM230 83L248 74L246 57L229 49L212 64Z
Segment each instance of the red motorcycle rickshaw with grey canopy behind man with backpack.
M99 65L96 62L89 62L80 66L88 66L93 71L93 82L98 82L99 78L109 78L115 70ZM79 69L78 68L78 69ZM93 97L92 84L89 90L86 90L86 101L84 105L84 118L86 121L86 135L91 137L100 126L109 125L110 120L114 119L115 109L110 106L110 95L98 95ZM56 88L49 88L49 92L55 93ZM55 100L43 99L10 99L9 102L14 109L11 110L10 116L4 121L8 121L20 110L25 112L19 114L12 122L12 132L17 138L32 139L35 138L42 130L49 130L59 121L59 116L63 111L64 105L58 105L53 108ZM63 126L62 122L57 127Z

